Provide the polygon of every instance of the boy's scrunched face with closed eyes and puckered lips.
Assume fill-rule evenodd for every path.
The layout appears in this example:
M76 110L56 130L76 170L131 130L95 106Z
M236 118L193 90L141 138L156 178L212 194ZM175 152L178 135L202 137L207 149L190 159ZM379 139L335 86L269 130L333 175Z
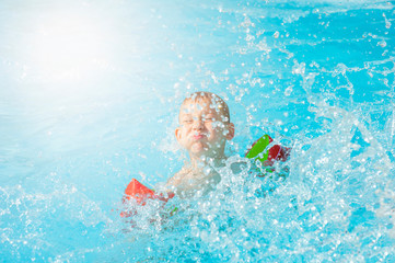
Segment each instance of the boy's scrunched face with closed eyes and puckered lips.
M225 141L233 138L234 126L224 119L219 106L210 100L186 101L182 105L181 126L175 129L175 135L191 158L222 157Z

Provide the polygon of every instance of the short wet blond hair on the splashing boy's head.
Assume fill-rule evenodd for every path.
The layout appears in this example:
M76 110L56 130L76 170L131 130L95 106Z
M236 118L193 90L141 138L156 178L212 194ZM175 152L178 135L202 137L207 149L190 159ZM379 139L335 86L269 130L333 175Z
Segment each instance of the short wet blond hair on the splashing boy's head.
M208 101L209 105L213 106L217 112L219 111L222 114L222 122L231 122L228 104L224 102L224 100L222 100L222 98L208 91L197 91L191 93L190 95L185 98L182 106L188 102L200 103L202 101Z

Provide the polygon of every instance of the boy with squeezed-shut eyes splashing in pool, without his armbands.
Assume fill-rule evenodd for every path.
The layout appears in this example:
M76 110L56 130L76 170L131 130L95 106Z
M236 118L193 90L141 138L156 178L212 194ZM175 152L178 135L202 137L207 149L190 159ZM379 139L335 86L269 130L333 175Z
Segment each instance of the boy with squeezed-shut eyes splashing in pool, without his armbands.
M210 191L221 181L217 168L223 167L226 140L234 137L229 107L217 94L195 92L186 98L179 111L178 144L188 152L190 163L171 178L166 187L182 197Z

